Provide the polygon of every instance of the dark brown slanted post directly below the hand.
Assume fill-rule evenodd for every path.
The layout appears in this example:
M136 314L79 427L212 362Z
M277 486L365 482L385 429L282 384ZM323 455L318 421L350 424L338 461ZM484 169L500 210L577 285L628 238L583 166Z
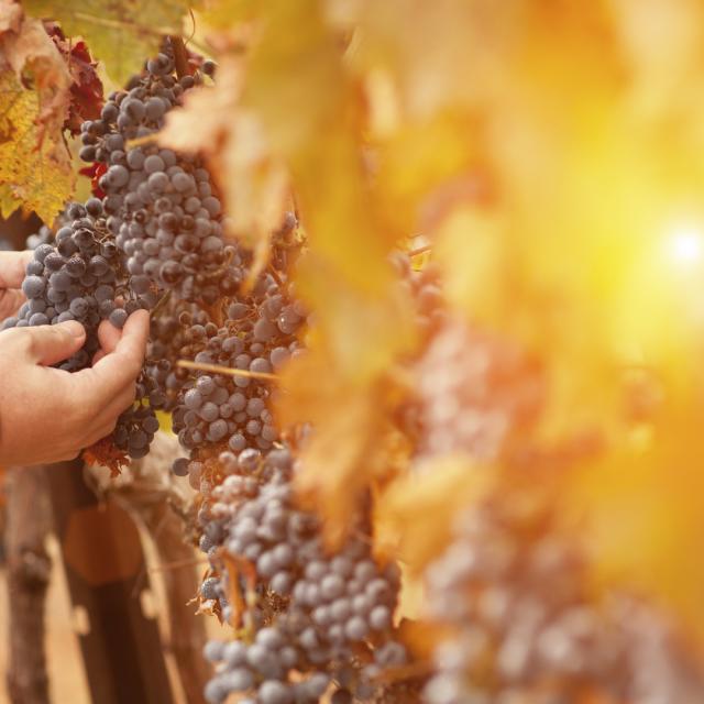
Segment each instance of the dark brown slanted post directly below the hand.
M114 503L98 502L82 462L53 464L47 479L73 607L87 617L79 634L91 701L169 704L158 627L141 606L148 579L136 527Z

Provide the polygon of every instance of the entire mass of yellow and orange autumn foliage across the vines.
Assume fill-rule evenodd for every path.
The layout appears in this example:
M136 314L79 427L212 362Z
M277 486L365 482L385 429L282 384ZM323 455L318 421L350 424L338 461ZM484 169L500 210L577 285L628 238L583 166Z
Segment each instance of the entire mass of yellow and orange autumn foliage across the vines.
M421 658L427 568L507 497L579 550L581 598L646 600L701 664L704 6L102 6L0 2L0 212L51 222L74 194L86 45L119 84L183 33L217 80L158 142L207 160L257 271L296 210L298 499L330 546L371 502Z

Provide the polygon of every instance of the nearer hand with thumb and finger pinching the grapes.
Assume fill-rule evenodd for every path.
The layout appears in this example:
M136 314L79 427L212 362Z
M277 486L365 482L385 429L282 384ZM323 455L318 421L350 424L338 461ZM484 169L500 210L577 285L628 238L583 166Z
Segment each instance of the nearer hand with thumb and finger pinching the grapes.
M148 329L145 310L121 331L103 321L94 365L73 374L48 365L81 348L79 322L0 332L0 465L70 460L110 435L134 400Z

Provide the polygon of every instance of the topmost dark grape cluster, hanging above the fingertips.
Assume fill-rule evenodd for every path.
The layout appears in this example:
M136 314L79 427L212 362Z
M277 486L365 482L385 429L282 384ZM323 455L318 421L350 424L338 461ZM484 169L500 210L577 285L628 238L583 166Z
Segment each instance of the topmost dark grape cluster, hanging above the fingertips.
M182 300L216 304L240 282L224 266L221 205L210 175L196 156L154 143L129 147L164 124L185 90L200 80L174 75L169 42L147 62L127 90L109 96L98 120L85 122L81 158L99 162L108 227L127 256L130 287L138 294L173 289Z

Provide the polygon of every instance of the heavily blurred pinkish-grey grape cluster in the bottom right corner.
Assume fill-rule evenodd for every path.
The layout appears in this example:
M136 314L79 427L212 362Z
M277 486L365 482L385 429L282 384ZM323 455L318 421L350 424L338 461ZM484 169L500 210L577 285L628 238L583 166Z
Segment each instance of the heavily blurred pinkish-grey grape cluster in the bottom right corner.
M704 683L678 661L664 618L626 596L595 603L585 570L543 509L502 496L462 514L426 572L427 615L453 635L435 650L425 701L552 704L587 691L644 704L702 700Z

